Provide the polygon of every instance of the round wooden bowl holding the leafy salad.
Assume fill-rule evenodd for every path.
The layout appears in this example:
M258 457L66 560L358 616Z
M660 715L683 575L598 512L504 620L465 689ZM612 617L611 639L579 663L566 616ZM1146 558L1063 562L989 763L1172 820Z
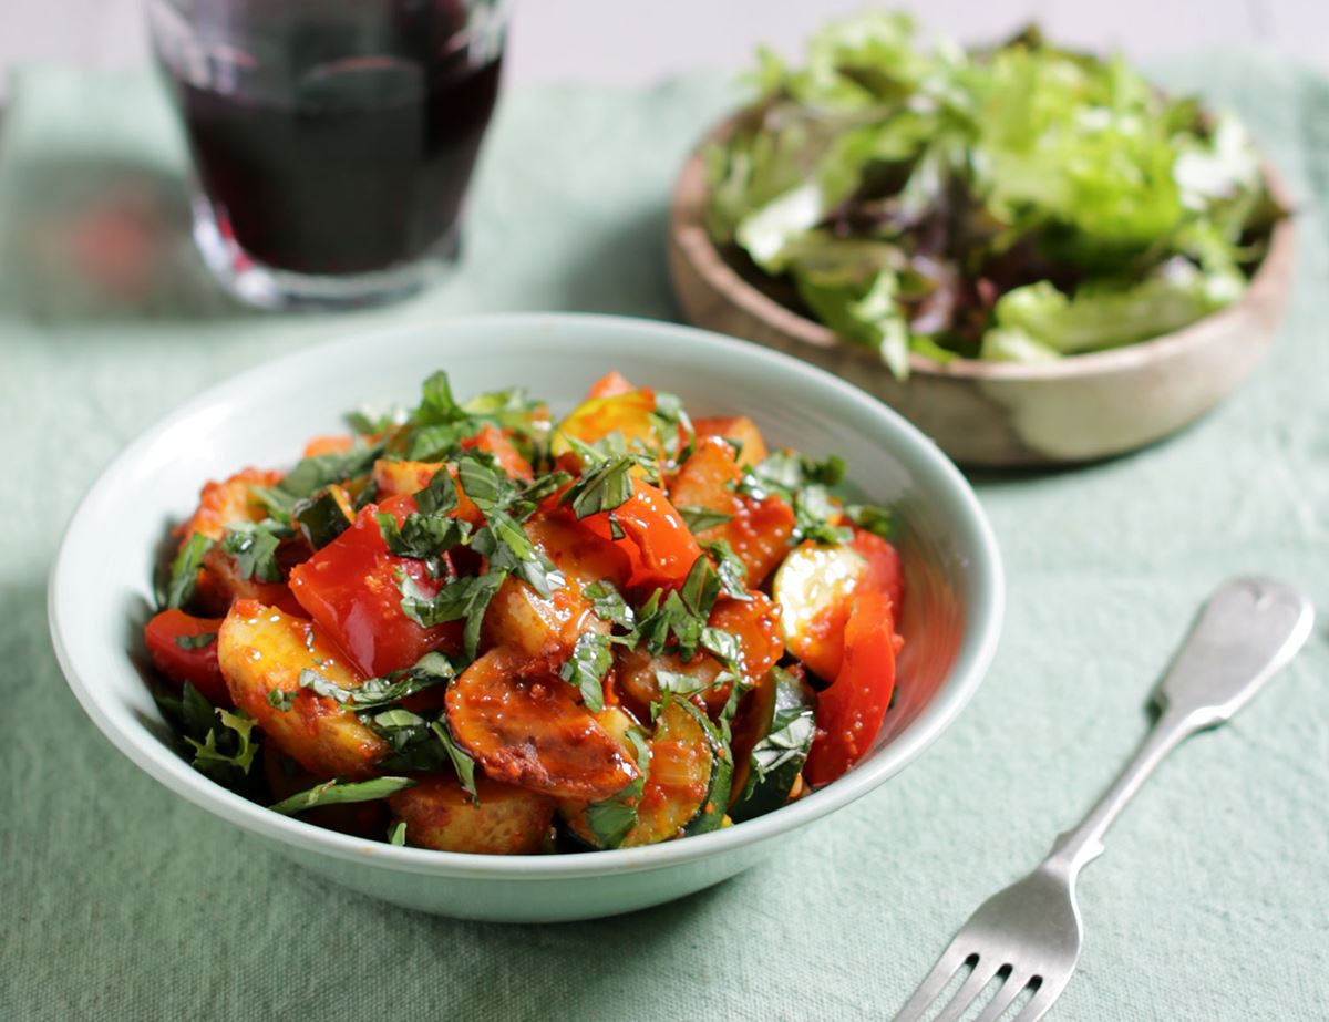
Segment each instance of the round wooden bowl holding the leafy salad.
M723 140L735 121L707 141ZM1273 195L1286 193L1265 166ZM690 323L779 348L876 395L966 465L1057 465L1144 447L1204 415L1259 364L1288 302L1290 219L1239 302L1174 334L1058 361L1019 364L920 355L897 380L870 351L783 304L779 282L744 275L704 226L700 150L683 165L670 211L670 272Z

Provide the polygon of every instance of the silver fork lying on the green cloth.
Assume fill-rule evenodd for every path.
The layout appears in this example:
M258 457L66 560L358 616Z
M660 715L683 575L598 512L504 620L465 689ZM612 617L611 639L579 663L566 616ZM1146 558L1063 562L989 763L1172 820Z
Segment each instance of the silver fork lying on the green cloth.
M977 1022L997 1022L1026 989L1033 995L1015 1022L1042 1018L1079 961L1075 878L1103 853L1112 820L1168 752L1196 731L1229 720L1292 659L1313 618L1310 601L1281 582L1235 578L1219 586L1154 692L1159 715L1135 758L1033 873L969 917L896 1022L924 1018L965 965L971 966L969 975L934 1022L954 1022L973 1010L993 979L999 985Z

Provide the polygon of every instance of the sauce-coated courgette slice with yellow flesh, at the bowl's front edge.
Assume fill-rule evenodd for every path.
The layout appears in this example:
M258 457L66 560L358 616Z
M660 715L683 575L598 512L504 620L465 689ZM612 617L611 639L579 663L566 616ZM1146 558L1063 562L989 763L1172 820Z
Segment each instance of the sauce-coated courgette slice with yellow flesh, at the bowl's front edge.
M613 731L607 724L606 730ZM587 847L634 848L720 827L734 759L704 712L686 699L670 699L655 734L637 752L642 750L645 784L590 805L563 804L567 829Z

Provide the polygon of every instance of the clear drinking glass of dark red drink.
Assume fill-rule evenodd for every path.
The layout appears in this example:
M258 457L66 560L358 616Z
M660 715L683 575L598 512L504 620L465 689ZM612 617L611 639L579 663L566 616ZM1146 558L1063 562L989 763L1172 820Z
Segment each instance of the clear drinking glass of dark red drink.
M456 258L508 0L148 0L194 239L267 308L372 304Z

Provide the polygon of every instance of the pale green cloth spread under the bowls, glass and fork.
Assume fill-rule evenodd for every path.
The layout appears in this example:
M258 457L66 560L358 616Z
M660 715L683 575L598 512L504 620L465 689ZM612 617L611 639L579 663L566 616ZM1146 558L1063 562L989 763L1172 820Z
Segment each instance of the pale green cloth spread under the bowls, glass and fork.
M209 286L146 76L20 76L0 128L0 1018L889 1015L1132 750L1147 687L1220 578L1271 573L1329 607L1329 82L1240 54L1163 77L1236 106L1298 201L1292 310L1256 377L1132 457L977 480L1010 575L1003 646L970 708L884 789L686 901L494 926L330 888L130 766L60 676L47 571L100 466L219 375L461 311L675 316L670 182L732 96L714 80L512 93L456 276L334 322L237 312ZM1160 769L1107 844L1058 1018L1329 1017L1322 623L1232 727Z

